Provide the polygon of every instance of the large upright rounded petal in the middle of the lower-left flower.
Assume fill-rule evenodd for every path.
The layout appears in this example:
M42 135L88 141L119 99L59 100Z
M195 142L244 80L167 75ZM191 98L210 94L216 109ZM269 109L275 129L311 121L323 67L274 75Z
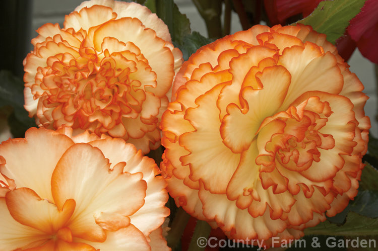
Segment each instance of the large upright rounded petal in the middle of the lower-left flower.
M51 191L59 210L68 198L76 201L68 223L73 235L104 241L104 229L114 231L130 224L128 216L143 206L147 186L141 174L122 173L123 166L118 163L109 170L102 152L83 143L70 147L60 158Z

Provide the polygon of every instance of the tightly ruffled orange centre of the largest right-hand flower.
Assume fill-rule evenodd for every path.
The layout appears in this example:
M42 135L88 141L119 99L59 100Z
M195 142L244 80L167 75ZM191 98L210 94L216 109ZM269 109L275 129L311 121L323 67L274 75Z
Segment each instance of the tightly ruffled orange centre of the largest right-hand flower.
M289 108L284 115L277 114L269 122L271 125L262 130L262 133L272 135L264 147L268 154L260 154L256 159L263 172L273 171L276 164L302 172L310 168L313 161L319 162L320 149L329 150L335 146L333 136L322 133L331 114L329 104L316 97L307 100L298 110ZM271 128L276 131L269 132Z

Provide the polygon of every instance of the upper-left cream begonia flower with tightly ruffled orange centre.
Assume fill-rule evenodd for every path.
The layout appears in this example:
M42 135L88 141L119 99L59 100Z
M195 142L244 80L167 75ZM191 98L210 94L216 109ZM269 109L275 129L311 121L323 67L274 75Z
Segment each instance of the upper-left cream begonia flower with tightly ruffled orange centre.
M40 127L72 127L160 146L167 93L182 64L168 27L136 3L91 0L45 24L24 60L25 108Z

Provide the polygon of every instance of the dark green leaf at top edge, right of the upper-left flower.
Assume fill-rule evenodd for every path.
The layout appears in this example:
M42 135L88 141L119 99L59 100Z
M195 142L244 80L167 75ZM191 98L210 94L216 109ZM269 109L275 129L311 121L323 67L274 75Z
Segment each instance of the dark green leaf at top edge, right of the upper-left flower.
M183 44L183 38L191 34L191 23L186 15L178 11L173 0L147 0L145 6L164 21L168 26L175 46Z

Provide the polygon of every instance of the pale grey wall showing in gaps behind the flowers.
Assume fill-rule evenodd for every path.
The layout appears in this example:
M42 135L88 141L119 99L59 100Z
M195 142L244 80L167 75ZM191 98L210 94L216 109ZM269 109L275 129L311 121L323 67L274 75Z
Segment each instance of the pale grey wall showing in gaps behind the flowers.
M62 27L65 15L71 13L77 7L81 0L34 0L32 8L32 29L30 39L37 36L35 30L45 23L59 23ZM197 9L190 0L175 0L180 12L186 14L191 21L191 28L207 36L205 22L197 12ZM232 13L231 16L231 33L241 30L238 16ZM32 49L32 46L30 46ZM378 137L378 124L375 120L377 113L377 96L376 96L376 80L374 73L374 65L361 56L358 49L353 53L349 60L350 70L357 74L359 79L365 86L364 92L370 97L365 106L365 113L370 117L372 124L371 133Z

